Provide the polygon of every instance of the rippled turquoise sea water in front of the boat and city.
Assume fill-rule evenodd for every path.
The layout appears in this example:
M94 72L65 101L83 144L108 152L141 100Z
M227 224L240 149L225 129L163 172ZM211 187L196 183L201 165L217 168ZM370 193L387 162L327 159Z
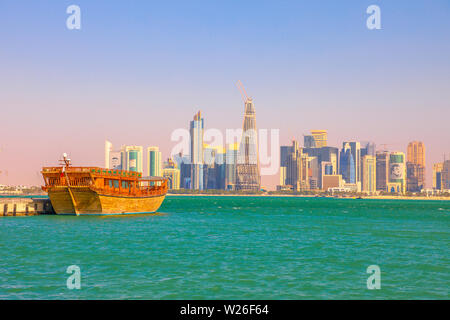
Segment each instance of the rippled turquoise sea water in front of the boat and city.
M156 215L1 217L0 298L448 299L449 244L450 201L170 196Z

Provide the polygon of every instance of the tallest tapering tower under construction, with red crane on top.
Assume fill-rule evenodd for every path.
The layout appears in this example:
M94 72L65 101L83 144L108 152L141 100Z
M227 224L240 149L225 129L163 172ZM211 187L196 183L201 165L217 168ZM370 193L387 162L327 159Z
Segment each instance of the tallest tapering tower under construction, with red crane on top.
M240 81L245 104L242 139L239 145L236 165L236 190L259 191L261 189L261 175L258 156L258 133L256 131L255 105L252 98L247 96Z

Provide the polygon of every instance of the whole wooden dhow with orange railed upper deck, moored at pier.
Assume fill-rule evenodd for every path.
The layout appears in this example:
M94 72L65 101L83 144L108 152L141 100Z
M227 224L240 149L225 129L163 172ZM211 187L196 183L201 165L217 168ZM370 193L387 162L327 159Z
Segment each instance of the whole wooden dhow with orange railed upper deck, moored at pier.
M56 214L98 215L152 213L167 194L167 179L142 178L133 171L72 167L64 154L59 167L44 167L42 175Z

